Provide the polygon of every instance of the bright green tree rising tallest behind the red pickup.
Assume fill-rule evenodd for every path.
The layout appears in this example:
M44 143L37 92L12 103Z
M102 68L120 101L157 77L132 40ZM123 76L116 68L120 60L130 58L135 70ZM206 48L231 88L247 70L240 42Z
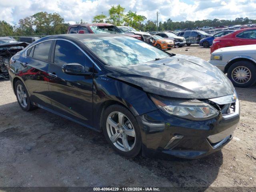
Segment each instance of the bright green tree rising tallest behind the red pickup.
M109 14L108 21L117 26L122 25L124 10L125 8L120 6L120 4L118 4L118 6L114 6L114 5L111 6L110 10L108 10L108 14Z

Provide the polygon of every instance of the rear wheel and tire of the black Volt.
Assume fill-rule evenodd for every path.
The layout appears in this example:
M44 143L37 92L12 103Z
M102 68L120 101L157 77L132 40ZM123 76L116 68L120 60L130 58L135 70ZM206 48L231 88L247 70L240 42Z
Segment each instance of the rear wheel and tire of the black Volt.
M30 102L28 91L22 81L18 80L15 83L15 94L18 100L20 108L24 111L30 111L34 109L34 106Z

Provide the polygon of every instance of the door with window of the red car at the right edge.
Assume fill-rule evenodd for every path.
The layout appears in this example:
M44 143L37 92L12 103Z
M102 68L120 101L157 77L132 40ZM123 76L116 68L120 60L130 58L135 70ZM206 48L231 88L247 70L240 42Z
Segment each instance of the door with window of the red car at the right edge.
M240 32L236 35L235 40L234 46L256 44L256 29Z

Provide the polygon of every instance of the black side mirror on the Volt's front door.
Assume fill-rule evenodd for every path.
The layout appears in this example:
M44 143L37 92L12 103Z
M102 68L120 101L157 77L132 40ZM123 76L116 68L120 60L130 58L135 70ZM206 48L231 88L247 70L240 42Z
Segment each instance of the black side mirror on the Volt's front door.
M69 63L62 66L62 71L70 75L88 75L92 74L85 70L84 66L78 63Z

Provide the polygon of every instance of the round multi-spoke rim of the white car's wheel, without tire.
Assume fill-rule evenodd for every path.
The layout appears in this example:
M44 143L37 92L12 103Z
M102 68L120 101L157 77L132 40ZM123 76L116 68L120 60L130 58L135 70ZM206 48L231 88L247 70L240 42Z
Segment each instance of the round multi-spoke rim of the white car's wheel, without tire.
M238 84L244 84L251 78L251 72L247 67L238 66L232 71L232 79Z

